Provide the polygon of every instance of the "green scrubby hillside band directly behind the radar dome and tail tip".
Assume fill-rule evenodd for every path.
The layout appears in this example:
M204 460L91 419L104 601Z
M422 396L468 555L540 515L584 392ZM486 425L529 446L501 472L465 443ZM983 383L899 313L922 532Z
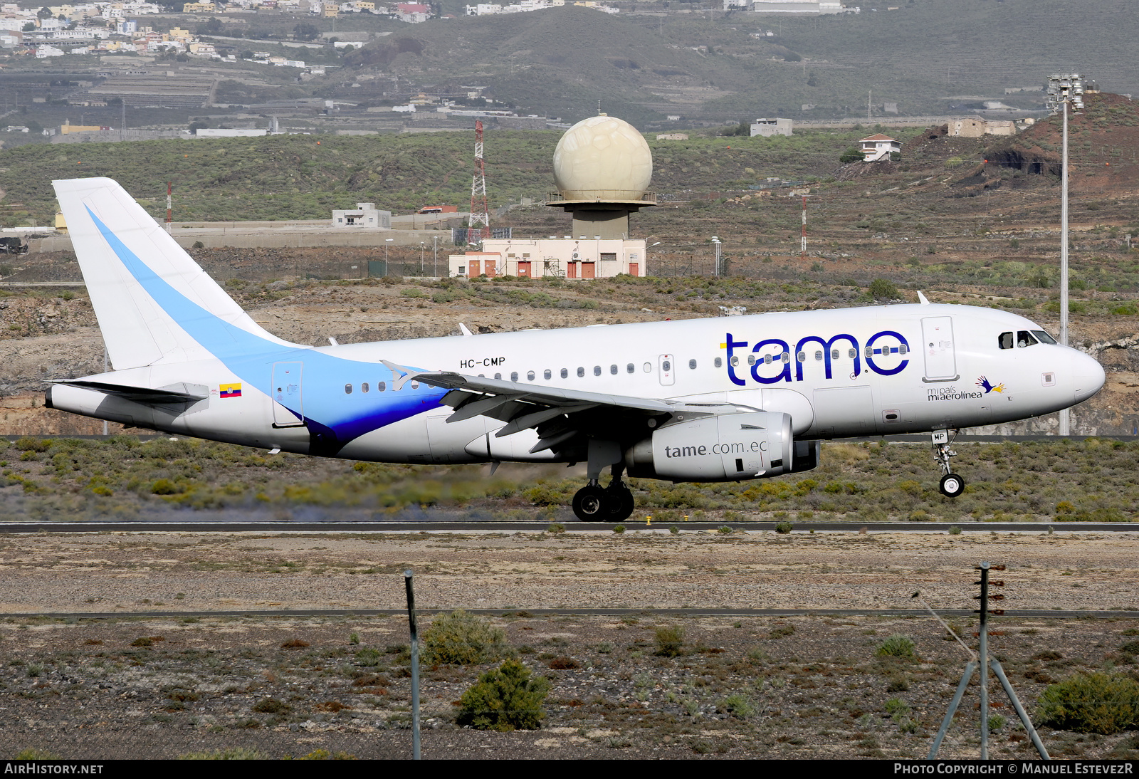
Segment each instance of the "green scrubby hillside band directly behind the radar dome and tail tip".
M689 190L744 189L767 177L826 177L862 134L654 139L653 187L688 199ZM523 196L544 199L559 137L522 130L486 136L492 207ZM462 205L470 198L473 148L474 132L28 145L0 151L0 221L50 223L51 181L90 175L117 180L156 216L165 213L166 181L173 181L177 221L326 219L357 202L404 213L427 202Z

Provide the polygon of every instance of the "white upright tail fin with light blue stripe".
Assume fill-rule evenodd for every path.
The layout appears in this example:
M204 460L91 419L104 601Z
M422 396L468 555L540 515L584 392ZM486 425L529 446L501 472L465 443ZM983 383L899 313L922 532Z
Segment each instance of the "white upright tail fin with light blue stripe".
M254 322L118 182L52 183L115 370L212 356L216 344L190 335L219 330L211 325L293 345Z

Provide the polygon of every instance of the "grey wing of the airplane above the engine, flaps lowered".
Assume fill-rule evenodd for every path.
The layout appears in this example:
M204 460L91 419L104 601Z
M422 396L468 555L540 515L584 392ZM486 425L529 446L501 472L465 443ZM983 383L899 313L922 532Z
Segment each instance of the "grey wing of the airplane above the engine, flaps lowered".
M695 419L737 411L755 411L734 403L685 403L654 397L611 395L536 384L503 382L450 371L411 371L385 362L398 374L398 386L409 380L450 390L442 403L454 409L449 423L472 417L491 417L506 425L495 433L502 437L526 428L538 432L531 453L552 449L572 451L587 437L603 437L632 444L653 429L672 420Z

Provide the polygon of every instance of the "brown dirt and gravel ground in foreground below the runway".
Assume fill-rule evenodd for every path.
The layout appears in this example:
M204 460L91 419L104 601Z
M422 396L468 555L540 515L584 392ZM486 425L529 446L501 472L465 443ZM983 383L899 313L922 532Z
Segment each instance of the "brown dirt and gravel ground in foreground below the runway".
M596 531L420 534L100 533L3 536L0 753L178 756L243 748L410 752L408 629L388 617L43 618L38 613L403 606L507 609L509 651L551 682L534 731L460 728L452 705L495 663L424 666L424 755L920 757L967 659L932 618L539 616L544 607L974 606L972 566L1010 609L1130 609L1139 536L966 532ZM421 621L421 629L432 617ZM950 621L973 642L974 623ZM680 628L675 656L657 629ZM992 651L1030 711L1077 671L1133 674L1134 620L998 618ZM916 656L882 656L892 636ZM943 745L978 753L976 686ZM1034 752L993 687L992 754ZM1063 757L1139 756L1131 733L1042 729Z

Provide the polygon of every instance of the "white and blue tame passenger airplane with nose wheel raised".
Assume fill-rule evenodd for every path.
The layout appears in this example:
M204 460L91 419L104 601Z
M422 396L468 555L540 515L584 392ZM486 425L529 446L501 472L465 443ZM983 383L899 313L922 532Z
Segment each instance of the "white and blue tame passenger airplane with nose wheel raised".
M1104 386L1024 317L929 303L328 346L264 330L115 181L56 181L113 370L46 405L319 457L584 462L584 522L634 509L624 476L808 472L820 442L929 433L956 498L961 428L1039 417ZM331 341L331 339L330 339ZM601 486L605 468L612 479Z

